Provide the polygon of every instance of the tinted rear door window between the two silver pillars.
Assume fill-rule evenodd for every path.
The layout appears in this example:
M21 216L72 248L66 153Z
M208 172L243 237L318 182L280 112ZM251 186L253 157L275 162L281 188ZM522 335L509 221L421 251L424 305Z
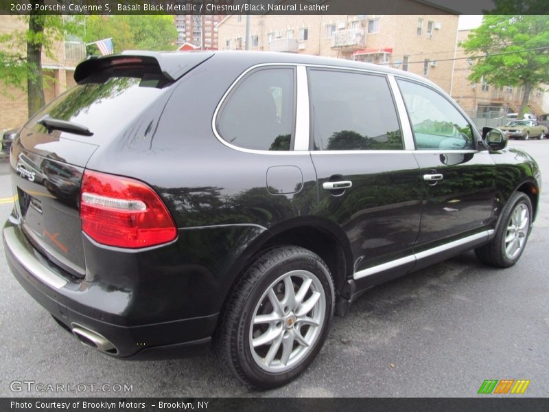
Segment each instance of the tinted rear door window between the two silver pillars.
M384 76L309 69L314 150L404 148Z

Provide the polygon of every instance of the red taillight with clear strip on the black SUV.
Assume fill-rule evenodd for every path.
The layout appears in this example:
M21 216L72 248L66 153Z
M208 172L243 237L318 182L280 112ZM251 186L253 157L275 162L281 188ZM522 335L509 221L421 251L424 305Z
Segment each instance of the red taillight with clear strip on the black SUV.
M154 190L112 174L84 172L80 218L84 233L109 246L149 247L177 236L174 220Z

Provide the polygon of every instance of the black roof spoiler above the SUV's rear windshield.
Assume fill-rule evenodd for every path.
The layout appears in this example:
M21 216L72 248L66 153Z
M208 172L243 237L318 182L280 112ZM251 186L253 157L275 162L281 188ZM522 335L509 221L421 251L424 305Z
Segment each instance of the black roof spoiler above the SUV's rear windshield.
M213 52L142 52L128 50L121 54L113 54L100 58L84 60L74 71L74 80L77 83L105 69L114 67L148 67L154 73L161 73L170 82L183 76L185 73L205 62Z

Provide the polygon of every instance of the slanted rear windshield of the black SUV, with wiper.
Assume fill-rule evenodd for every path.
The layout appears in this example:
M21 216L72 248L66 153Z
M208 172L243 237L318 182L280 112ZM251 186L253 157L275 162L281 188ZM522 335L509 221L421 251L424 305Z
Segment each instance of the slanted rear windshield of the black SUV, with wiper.
M30 122L27 127L46 133L45 127L36 122L49 115L86 126L93 133L92 136L80 136L54 130L52 135L60 133L71 139L100 145L128 127L132 119L142 115L165 92L167 84L161 75L154 73L126 71L117 73L117 76L97 73L45 106L33 117L34 123Z

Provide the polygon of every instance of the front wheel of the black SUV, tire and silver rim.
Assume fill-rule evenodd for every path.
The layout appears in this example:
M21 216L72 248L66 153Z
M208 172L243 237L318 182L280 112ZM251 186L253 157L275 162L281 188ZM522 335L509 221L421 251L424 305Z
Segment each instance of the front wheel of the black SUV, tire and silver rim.
M530 234L532 203L522 192L515 192L502 211L493 239L475 249L477 258L491 266L509 268L517 263Z

